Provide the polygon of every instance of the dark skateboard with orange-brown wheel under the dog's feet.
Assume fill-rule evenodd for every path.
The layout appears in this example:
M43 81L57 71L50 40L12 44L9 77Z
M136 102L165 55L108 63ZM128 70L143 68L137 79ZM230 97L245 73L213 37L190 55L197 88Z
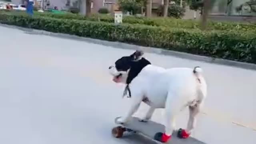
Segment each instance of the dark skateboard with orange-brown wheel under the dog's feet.
M120 117L115 118L116 124L118 124L116 122L118 118ZM162 143L157 140L154 140L154 135L157 132L164 132L164 125L159 124L157 122L153 122L151 120L148 120L148 122L141 122L139 118L132 117L130 121L124 124L118 124L118 125L119 126L112 128L112 135L115 138L122 138L123 136L125 136L124 134L128 133L128 134L139 134L150 140L153 140L158 144L206 144L192 137L189 137L186 139L178 138L177 137L178 131L173 132L172 138L167 143Z

